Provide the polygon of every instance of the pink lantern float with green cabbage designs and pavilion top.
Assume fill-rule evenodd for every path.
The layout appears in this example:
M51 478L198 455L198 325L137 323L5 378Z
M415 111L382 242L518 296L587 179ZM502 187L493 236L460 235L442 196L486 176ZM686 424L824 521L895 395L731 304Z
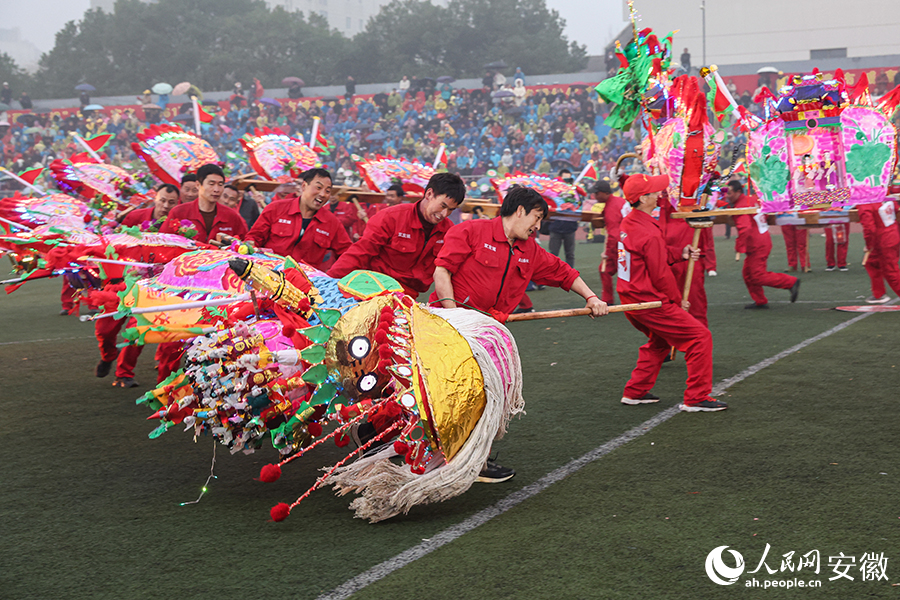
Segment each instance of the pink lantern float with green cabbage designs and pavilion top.
M865 79L796 75L764 94L770 118L752 130L747 169L762 211L842 209L884 202L897 159L890 118L900 87L873 104Z

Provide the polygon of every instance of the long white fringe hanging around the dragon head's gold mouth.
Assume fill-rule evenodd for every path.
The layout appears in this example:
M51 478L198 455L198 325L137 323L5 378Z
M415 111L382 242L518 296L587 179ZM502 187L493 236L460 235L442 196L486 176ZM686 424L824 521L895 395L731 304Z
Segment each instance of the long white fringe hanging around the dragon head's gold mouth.
M417 475L409 465L396 465L393 444L381 451L341 467L326 483L340 495L361 494L350 503L356 517L376 523L417 504L443 502L468 490L491 451L491 444L506 433L513 415L524 414L522 365L515 339L506 327L479 312L463 308L429 309L445 319L469 343L481 367L487 402L484 413L462 448L449 463L429 465ZM495 360L496 359L496 360Z

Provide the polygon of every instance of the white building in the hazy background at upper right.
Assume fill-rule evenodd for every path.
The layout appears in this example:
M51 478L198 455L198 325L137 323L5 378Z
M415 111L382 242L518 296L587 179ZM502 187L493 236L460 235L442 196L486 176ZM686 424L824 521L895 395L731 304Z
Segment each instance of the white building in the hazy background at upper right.
M635 0L638 29L678 29L674 55L691 63L736 65L900 55L897 0ZM628 2L623 0L625 18Z

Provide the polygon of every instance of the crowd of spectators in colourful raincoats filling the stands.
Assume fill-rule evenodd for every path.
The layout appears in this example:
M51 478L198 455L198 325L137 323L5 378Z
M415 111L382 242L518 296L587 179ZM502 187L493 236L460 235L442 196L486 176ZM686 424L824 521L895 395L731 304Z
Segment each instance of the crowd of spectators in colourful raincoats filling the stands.
M575 170L590 159L598 170L608 170L618 156L633 150L632 132L622 134L603 125L609 107L598 103L589 86L526 88L524 76L518 75L512 85L499 87L411 86L389 94L327 98L309 103L309 108L292 103L296 109L288 103L275 106L232 96L226 106L211 107L215 120L204 124L202 132L232 172L245 172L249 168L242 164L246 158L238 142L243 135L257 127L274 127L308 140L313 119L319 117L320 131L333 144L331 153L322 155L323 162L339 178L354 177L354 155L405 156L430 164L441 144L446 145L448 169L473 178L489 171ZM12 123L0 122L0 164L18 172L68 158L82 151L69 135L73 131L83 137L113 133L104 149L108 160L119 165L137 161L131 143L148 123L138 118L141 111L110 112L82 110L65 118L19 114ZM176 120L190 127L188 118L185 112Z

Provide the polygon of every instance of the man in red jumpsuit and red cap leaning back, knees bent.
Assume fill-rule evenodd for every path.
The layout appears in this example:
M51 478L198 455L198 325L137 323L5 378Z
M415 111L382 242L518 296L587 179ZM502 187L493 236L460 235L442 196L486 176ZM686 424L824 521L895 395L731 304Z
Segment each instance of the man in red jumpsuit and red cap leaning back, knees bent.
M626 317L649 339L638 351L638 361L625 385L622 403L649 404L659 397L650 393L663 361L674 346L684 353L688 378L681 410L713 412L728 405L710 397L712 392L712 334L687 311L668 264L668 250L659 223L651 216L659 193L666 189L666 175L632 175L625 182L625 199L632 210L622 220L619 233L616 291L624 303L654 302L662 306L632 311ZM698 248L685 248L688 257L700 258Z

